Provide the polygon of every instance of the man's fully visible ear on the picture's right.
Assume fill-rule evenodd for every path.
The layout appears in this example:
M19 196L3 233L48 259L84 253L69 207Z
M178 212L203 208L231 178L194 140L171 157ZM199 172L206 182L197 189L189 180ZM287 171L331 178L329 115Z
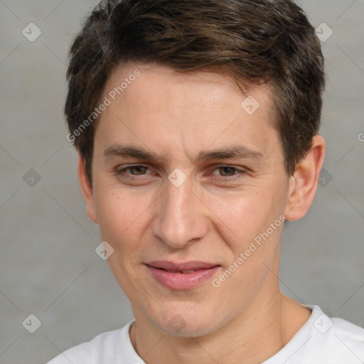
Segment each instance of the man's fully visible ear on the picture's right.
M325 141L319 135L312 138L306 157L289 178L289 196L284 212L287 220L299 220L309 210L317 190L319 173L325 158Z

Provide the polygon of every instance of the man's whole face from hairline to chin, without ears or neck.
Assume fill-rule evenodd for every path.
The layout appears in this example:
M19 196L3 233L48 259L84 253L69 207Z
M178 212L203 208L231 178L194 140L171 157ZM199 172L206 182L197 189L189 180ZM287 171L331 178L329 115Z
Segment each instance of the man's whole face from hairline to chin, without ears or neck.
M269 90L250 95L256 110L229 77L150 64L109 77L89 214L114 249L109 265L137 321L200 336L276 294L288 178ZM124 146L158 159L127 156ZM232 147L241 155L208 155Z

